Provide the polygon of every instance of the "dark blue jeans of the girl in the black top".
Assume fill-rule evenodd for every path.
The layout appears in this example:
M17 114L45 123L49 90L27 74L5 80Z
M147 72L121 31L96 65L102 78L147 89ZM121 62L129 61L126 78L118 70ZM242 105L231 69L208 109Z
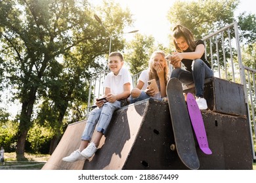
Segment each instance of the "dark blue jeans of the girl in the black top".
M171 78L178 78L183 84L194 82L196 97L203 97L203 85L205 78L213 77L213 71L202 61L195 59L192 62L192 73L182 69L173 69Z

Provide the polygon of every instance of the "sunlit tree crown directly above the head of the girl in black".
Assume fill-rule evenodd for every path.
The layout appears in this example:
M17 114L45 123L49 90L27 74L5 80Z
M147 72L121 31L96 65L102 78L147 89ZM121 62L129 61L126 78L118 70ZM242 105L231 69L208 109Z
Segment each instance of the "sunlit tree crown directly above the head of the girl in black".
M182 24L194 33L196 39L234 22L234 10L239 0L177 0L167 14L171 30Z

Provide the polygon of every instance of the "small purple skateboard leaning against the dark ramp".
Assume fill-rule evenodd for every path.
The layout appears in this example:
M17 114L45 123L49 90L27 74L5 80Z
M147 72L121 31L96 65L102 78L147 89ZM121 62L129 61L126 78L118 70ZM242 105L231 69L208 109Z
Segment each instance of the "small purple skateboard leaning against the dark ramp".
M192 93L188 93L186 95L186 103L188 106L190 120L194 128L194 132L196 134L196 139L198 140L200 149L205 154L212 154L208 145L202 114Z

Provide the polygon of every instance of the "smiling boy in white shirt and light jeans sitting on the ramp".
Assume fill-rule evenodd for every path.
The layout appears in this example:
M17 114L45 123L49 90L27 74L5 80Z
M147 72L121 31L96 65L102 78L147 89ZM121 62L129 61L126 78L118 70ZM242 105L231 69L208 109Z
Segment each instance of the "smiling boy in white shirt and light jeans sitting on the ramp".
M97 107L89 115L79 149L72 152L70 156L63 158L63 161L74 162L91 158L95 154L100 139L110 124L112 114L121 107L120 100L130 95L132 79L129 71L123 68L122 54L112 52L108 59L108 66L111 72L108 73L104 81L106 103L104 103L104 100L96 101ZM93 131L95 131L97 123L98 126L93 137Z

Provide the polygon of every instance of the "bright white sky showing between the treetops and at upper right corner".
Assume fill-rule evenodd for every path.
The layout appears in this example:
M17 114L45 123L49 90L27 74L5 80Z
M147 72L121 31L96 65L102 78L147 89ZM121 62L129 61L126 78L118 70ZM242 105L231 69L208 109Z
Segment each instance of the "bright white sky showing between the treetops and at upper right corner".
M95 5L100 5L102 0L89 0ZM168 35L170 33L170 23L167 20L167 12L174 0L114 0L122 8L128 7L135 19L135 26L130 30L139 29L142 35L152 35L157 42L164 46L169 45ZM241 12L251 12L256 14L256 8L253 6L255 0L240 0L240 5L235 12L238 16ZM124 35L125 39L132 39L132 34Z

